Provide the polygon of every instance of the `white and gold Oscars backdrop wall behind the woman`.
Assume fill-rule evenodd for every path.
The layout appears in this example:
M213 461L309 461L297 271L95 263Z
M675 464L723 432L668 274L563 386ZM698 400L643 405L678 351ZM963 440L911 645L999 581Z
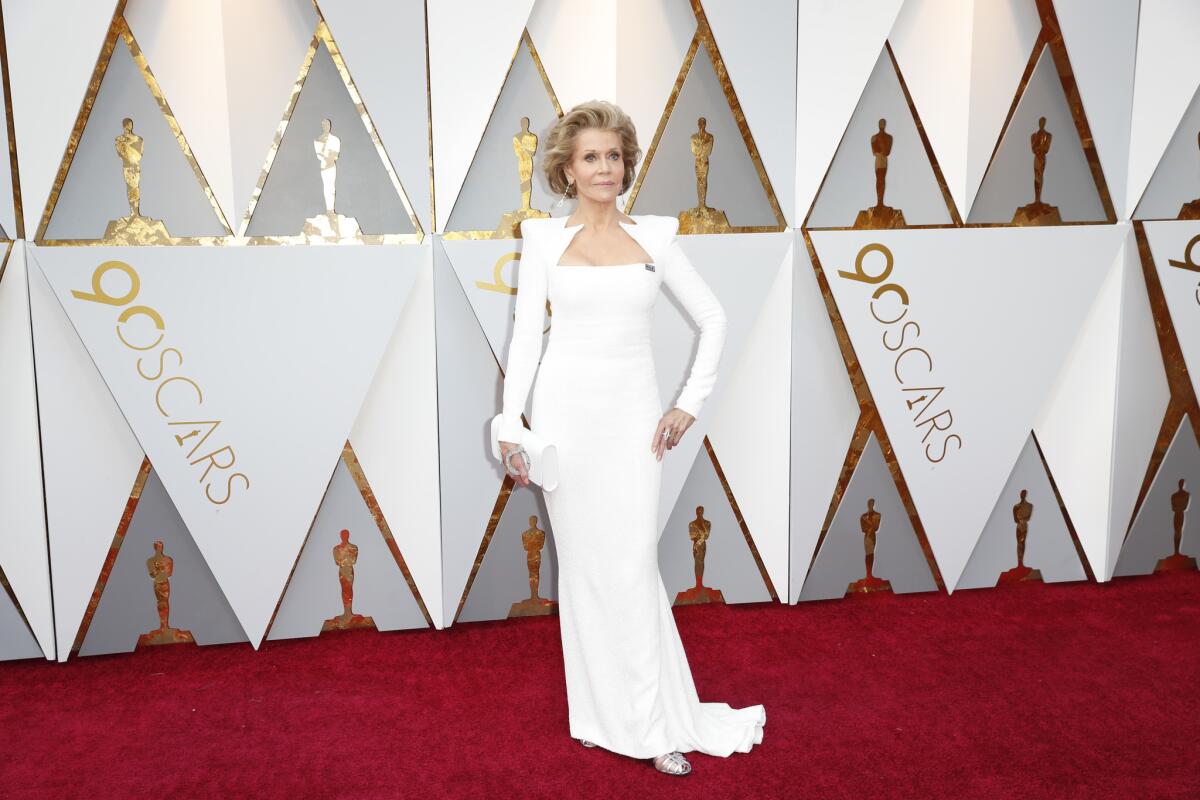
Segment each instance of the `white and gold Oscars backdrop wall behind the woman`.
M487 426L595 97L730 323L664 464L676 604L1195 569L1195 4L2 13L0 660L554 614Z

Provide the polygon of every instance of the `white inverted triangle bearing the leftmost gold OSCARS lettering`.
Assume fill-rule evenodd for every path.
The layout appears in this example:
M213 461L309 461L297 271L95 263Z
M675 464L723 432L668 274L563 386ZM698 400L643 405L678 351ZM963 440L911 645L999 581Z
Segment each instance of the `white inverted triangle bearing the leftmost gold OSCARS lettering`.
M36 254L256 645L420 257L403 246ZM133 295L130 275L101 272L121 261L140 278ZM101 294L109 301L88 299Z

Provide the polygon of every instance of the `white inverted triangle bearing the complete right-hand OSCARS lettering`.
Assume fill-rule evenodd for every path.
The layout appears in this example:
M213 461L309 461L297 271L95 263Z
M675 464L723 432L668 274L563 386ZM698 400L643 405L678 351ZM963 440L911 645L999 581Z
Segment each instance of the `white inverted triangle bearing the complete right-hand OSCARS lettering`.
M812 234L947 585L1091 307L1097 264L1112 264L1123 233ZM890 265L868 246L888 248Z

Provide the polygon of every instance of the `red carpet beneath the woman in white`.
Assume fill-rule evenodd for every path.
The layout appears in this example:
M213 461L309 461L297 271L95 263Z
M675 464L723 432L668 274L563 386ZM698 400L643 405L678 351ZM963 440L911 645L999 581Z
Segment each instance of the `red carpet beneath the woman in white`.
M684 778L568 736L542 618L0 664L0 796L1200 796L1200 573L677 619L767 706Z

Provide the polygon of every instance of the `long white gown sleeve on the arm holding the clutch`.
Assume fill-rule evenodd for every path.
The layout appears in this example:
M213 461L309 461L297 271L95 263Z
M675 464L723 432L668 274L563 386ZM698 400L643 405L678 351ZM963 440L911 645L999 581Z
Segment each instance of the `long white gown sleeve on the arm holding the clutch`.
M546 266L536 249L538 235L527 234L534 225L521 224L524 240L522 257L517 264L516 317L512 338L509 341L509 359L504 367L504 401L500 419L500 441L521 441L521 415L524 413L529 386L541 361L542 330L546 321Z

